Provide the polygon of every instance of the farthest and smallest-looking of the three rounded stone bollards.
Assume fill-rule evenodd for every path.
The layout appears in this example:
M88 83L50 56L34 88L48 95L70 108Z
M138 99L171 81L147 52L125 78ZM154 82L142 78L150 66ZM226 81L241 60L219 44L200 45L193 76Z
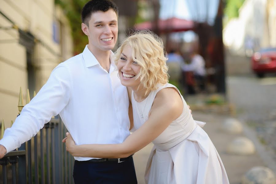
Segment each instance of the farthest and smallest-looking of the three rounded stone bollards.
M222 124L222 130L229 133L239 134L243 132L243 125L235 118L227 118Z

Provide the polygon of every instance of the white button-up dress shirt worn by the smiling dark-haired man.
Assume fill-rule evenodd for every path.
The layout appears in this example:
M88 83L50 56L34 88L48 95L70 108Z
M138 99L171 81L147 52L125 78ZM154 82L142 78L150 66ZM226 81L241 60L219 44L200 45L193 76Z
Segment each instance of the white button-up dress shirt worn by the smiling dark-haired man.
M108 73L86 46L83 53L52 71L12 128L6 129L0 144L7 152L20 147L57 114L77 145L122 143L130 134L128 106L127 90L120 82L114 62Z

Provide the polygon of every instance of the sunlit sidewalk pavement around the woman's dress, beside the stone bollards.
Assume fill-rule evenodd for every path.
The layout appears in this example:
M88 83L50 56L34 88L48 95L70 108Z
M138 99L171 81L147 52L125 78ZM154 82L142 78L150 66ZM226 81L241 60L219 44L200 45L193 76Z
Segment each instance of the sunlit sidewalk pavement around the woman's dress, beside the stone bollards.
M226 150L228 144L238 136L245 136L244 133L235 135L220 130L222 122L228 116L195 111L193 111L192 114L195 120L206 122L206 125L203 127L203 129L205 130L205 132L208 133L210 139L212 140L213 144L220 154L220 158L224 163L224 167L226 169L230 184L240 184L243 175L252 167L268 167L261 159L263 157L258 154L258 151L255 152L253 155L246 156L227 154ZM134 165L138 184L145 183L144 172L152 146L153 144L149 144L148 146L134 154Z

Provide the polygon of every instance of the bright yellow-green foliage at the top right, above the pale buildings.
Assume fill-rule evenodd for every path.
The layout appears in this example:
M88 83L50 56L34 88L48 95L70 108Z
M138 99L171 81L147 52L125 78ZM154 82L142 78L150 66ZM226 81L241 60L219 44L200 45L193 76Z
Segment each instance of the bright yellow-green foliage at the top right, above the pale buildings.
M226 0L224 12L228 20L239 17L239 9L243 2L244 0Z

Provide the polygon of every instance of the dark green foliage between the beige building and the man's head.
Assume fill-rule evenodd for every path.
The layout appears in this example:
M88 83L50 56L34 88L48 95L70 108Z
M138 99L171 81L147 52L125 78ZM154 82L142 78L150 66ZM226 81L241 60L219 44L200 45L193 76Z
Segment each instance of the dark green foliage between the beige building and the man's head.
M73 37L74 54L83 52L84 46L88 44L87 36L81 30L81 10L87 0L55 0L67 16Z

